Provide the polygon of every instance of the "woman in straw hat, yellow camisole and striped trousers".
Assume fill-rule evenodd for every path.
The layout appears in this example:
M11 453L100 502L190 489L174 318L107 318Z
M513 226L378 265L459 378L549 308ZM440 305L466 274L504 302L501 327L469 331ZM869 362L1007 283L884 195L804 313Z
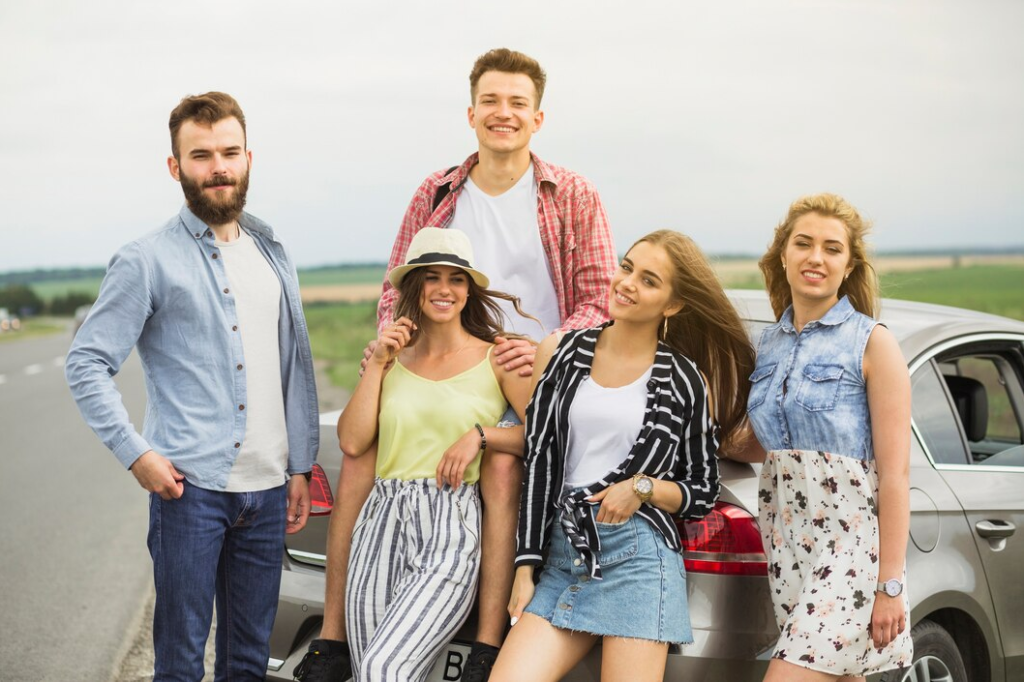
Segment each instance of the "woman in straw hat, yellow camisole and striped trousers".
M359 682L422 680L476 594L480 455L522 456L529 378L504 372L496 298L464 232L425 227L403 265L395 322L381 333L338 422L341 449L377 441L377 480L352 535L346 619ZM483 426L481 426L483 425Z

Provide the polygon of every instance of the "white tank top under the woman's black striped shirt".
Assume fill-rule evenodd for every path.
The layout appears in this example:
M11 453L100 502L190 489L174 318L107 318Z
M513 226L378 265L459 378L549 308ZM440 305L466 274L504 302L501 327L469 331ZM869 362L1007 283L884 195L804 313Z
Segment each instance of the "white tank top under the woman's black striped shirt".
M590 377L580 384L569 408L566 487L601 480L626 461L643 427L651 369L617 388L605 388Z

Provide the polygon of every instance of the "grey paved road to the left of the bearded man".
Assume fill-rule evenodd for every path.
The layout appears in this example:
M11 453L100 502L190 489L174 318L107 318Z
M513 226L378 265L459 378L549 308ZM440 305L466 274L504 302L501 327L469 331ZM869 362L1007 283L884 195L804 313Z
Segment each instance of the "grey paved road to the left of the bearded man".
M148 586L147 497L85 426L70 334L0 344L0 680L108 682ZM136 426L132 356L118 383Z

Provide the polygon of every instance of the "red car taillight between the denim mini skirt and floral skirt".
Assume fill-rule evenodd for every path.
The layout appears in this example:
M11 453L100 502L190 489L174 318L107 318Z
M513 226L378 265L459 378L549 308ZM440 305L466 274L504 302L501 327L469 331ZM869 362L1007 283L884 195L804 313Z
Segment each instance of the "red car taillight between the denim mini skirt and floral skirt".
M767 576L757 520L725 502L699 521L679 521L686 570L725 576Z

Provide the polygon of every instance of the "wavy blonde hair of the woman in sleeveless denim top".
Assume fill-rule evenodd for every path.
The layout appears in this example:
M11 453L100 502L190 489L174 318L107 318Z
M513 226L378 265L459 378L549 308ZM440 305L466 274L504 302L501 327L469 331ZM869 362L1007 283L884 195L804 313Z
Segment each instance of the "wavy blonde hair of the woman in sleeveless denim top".
M768 251L758 261L758 266L765 276L765 289L768 290L768 299L775 312L775 319L781 317L785 309L793 305L793 290L790 289L790 282L785 279L782 254L793 233L793 226L808 213L836 218L846 225L852 269L850 275L839 286L839 297L849 297L855 310L869 317L878 317L881 307L879 275L871 265L868 244L865 240L871 228L870 223L861 218L857 209L842 197L822 193L801 197L790 205L785 219L775 228L775 237L768 245Z

